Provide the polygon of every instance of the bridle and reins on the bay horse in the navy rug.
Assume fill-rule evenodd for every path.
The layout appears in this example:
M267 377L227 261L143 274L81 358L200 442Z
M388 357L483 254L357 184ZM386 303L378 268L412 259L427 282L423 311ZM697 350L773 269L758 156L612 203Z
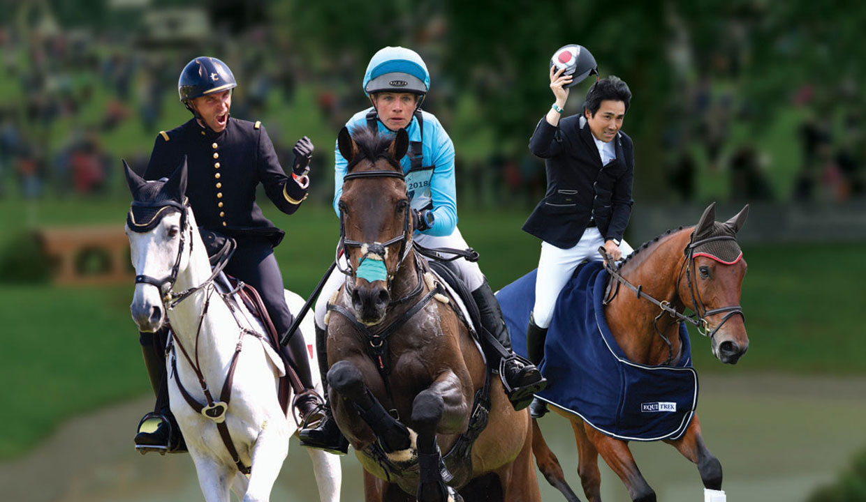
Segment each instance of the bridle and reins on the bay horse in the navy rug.
M680 281L682 280L682 270L686 271L688 292L692 296L692 304L695 306L695 313L692 315L685 315L681 312L678 312L675 308L670 306L670 302L668 302L667 300L656 300L656 298L653 298L651 295L647 295L643 292L642 285L638 284L637 286L635 286L634 284L630 283L623 276L621 276L619 274L619 271L612 265L613 258L611 257L611 255L607 254L606 251L604 251L604 247L598 247L598 253L601 254L601 256L604 258L604 270L607 270L608 274L610 274L611 277L615 281L617 281L617 285L615 288L612 287L612 285L608 286L608 294L605 295L603 302L604 305L609 304L617 296L617 293L619 292L619 285L624 284L628 289L634 291L638 298L643 298L644 300L653 303L654 305L656 305L656 307L662 310L658 315L656 315L656 319L655 321L653 321L653 328L656 330L656 334L658 334L662 338L662 340L664 340L664 342L668 344L668 359L665 360L665 365L669 365L674 359L673 345L671 344L668 337L665 336L665 334L662 334L662 331L658 328L658 321L661 320L662 315L664 315L665 313L668 313L671 317L679 319L680 321L688 321L694 324L695 327L697 327L698 333L708 337L709 339L712 339L716 332L718 332L719 329L722 327L722 325L725 324L725 322L727 322L727 320L730 319L732 316L739 314L744 319L746 317L746 315L743 314L743 309L742 307L740 307L740 305L713 308L711 310L708 310L701 301L701 293L697 290L697 284L695 283L695 281L692 280L692 275L690 273L690 270L695 268L695 248L697 246L706 244L707 242L714 240L736 240L736 238L733 236L716 236L710 238L702 238L698 241L695 241L694 239L695 236L693 233L692 239L689 241L688 245L686 245L686 247L682 250L683 254L685 254L686 257L682 261L682 265L680 266L680 273L678 274L676 279L676 290L679 291ZM702 314L701 310L703 311ZM709 322L707 321L707 317L709 315L717 315L725 312L727 312L727 315L722 317L721 322L708 333Z

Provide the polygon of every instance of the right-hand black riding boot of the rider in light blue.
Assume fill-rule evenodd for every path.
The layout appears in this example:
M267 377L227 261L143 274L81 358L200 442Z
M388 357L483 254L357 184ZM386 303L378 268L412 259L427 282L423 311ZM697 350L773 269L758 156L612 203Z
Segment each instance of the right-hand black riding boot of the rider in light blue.
M484 279L481 287L472 292L472 297L481 313L481 324L495 339L489 340L488 337L481 336L485 346L484 355L491 365L498 365L502 384L505 385L508 400L514 410L523 410L532 402L535 392L544 390L547 380L527 359L512 352L511 337L502 319L499 301L496 300L487 279ZM483 340L487 340L487 343Z

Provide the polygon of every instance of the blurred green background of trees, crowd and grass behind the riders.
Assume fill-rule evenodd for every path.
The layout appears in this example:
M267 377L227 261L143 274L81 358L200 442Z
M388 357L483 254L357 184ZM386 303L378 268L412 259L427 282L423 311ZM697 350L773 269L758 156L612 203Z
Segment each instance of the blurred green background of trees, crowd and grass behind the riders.
M239 83L233 116L262 120L284 165L298 137L313 139L312 190L304 207L288 217L262 202L268 218L288 233L276 249L287 287L307 296L333 259L332 145L346 119L368 105L361 91L366 62L385 45L417 50L432 80L424 109L441 119L456 147L461 232L481 252L482 270L496 289L537 264L540 243L520 226L544 194L545 175L527 141L552 101L550 56L565 43L579 43L595 55L602 75L622 77L634 94L624 123L636 143L636 203L626 234L632 245L694 224L711 201L719 203L719 219L752 204L740 236L749 264L742 305L751 349L732 368L712 359L705 340L695 342L695 366L710 382L700 410L711 450L713 416L712 427L725 429L739 419L732 411L737 406L764 413L762 406L795 399L792 389L804 386L811 391L800 401L768 407L781 425L771 428L778 437L760 436L767 447L822 434L798 429L803 415L797 410L813 406L835 410L839 420L827 427L839 429L827 433L846 440L829 442L843 447L825 448L829 456L813 464L779 467L782 478L802 480L794 484L797 496L786 499L866 499L863 453L845 467L866 444L866 431L849 423L851 414L863 411L866 391L863 6L760 0L625 1L615 7L4 0L2 6L0 381L7 384L0 479L5 472L14 480L12 473L39 445L54 441L46 438L55 431L68 434L63 428L70 418L133 398L139 403L149 392L129 318L132 283L57 287L57 264L44 256L36 236L67 226L120 232L129 201L120 158L140 172L158 131L189 118L177 96L186 61L207 54L229 64ZM580 111L588 85L572 89L566 113ZM99 276L102 258L98 252L79 257L76 270ZM728 379L747 404L714 407L712 399L727 398L726 385L715 383ZM840 386L853 393L832 406L809 401L836 396L831 389ZM111 427L132 431L134 425ZM555 437L564 450L558 454L577 488L575 451L566 448L572 440L561 425L546 427L559 427ZM116 448L129 447L132 454L127 435L123 442L130 444ZM722 463L734 469L754 454L747 452L758 448L755 441L764 441L738 439L734 431L723 437L724 447L715 444L729 448ZM789 448L789 456L808 457L815 447ZM88 458L88 451L75 454ZM700 480L694 468L662 458L664 467L688 469L689 477L675 482L688 481L695 499ZM131 468L154 462L136 461ZM820 475L798 474L814 469ZM671 486L657 486L649 474L648 480L659 490ZM28 497L55 500L66 493L74 499L64 482L71 481ZM358 480L347 474L346 486L350 482L357 486ZM623 497L618 481L605 483L605 494ZM664 499L676 499L676 489ZM765 493L760 490L746 486L741 499L775 499L772 489L758 498L755 493ZM97 499L93 491L87 497Z

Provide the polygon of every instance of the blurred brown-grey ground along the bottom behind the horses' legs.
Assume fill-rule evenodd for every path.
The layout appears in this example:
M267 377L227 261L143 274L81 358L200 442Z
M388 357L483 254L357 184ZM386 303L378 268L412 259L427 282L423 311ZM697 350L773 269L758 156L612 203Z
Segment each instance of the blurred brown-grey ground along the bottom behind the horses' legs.
M727 368L726 368L727 370ZM0 463L0 499L21 502L166 502L202 500L188 455L141 456L132 429L152 403L142 398L64 424L38 448ZM698 406L704 438L725 472L732 502L804 500L833 480L851 454L866 448L866 378L742 375L735 369L701 377ZM541 421L547 442L579 492L570 428L556 416ZM695 467L663 444L633 443L641 471L660 500L702 499ZM343 500L359 500L360 468L343 457ZM602 467L605 500L628 497ZM562 500L540 478L544 500ZM293 440L272 500L317 500L312 467Z

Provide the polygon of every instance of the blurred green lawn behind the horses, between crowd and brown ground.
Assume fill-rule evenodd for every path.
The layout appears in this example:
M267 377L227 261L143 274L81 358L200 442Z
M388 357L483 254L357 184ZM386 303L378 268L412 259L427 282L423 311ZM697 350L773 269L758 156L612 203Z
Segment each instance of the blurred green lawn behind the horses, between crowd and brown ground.
M0 255L16 236L37 226L120 227L127 205L125 200L0 202ZM306 297L333 260L337 219L326 207L304 207L288 217L263 206L287 231L276 250L284 280ZM481 269L494 289L537 264L539 242L519 230L525 217L522 211L462 215L461 232L481 252ZM708 341L695 336L695 366L701 372L866 374L861 357L866 340L859 335L863 277L855 273L863 270L862 250L859 245L828 250L824 244L746 247L749 272L741 304L749 353L734 370L713 359ZM132 283L105 288L0 283L0 381L6 382L0 459L27 451L69 416L148 391L129 318L131 297Z

